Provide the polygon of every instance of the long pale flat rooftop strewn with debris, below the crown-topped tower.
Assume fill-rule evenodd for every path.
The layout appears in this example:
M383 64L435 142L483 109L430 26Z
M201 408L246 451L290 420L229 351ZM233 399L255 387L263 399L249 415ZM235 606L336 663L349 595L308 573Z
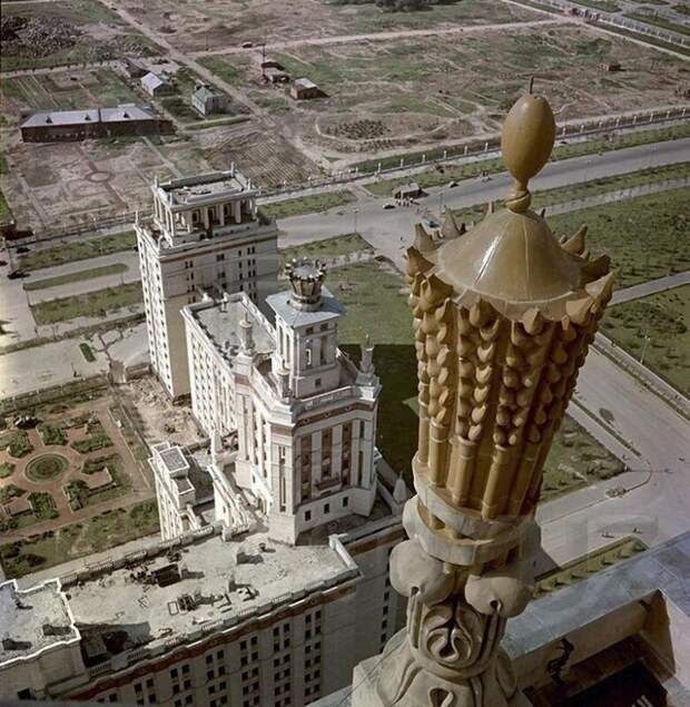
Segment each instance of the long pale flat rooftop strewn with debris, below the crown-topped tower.
M184 641L205 623L270 606L312 583L333 583L349 569L328 544L289 547L266 533L229 542L210 536L73 583L69 606L85 640L102 642L111 657ZM156 577L172 579L160 586Z

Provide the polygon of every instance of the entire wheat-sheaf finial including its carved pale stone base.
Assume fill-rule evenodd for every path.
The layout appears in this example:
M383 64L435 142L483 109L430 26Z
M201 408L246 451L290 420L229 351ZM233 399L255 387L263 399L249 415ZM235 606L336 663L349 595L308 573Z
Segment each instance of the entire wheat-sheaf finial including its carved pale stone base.
M522 97L503 127L507 208L466 234L417 227L408 251L417 494L391 561L407 627L376 678L378 658L355 670L355 707L523 704L500 642L532 595L542 468L613 282L583 230L559 244L529 208L554 136L549 104Z

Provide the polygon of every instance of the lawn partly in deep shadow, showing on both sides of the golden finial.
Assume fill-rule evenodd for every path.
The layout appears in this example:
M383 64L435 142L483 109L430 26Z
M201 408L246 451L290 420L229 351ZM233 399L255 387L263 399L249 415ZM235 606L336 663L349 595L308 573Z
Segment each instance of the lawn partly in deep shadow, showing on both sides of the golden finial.
M358 361L358 345L366 334L375 344L374 363L383 385L377 444L393 469L411 482L411 461L417 448L417 363L407 288L400 275L377 263L338 267L326 284L346 308L339 325L343 348ZM544 498L622 470L613 455L566 419L546 461Z

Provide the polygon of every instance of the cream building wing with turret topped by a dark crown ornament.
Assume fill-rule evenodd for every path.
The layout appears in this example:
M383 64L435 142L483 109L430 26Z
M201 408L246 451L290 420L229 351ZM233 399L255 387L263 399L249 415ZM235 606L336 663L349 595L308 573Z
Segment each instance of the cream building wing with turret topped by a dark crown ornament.
M268 517L270 536L288 543L353 513L368 517L377 492L373 347L363 345L359 367L338 348L344 310L324 275L318 264L288 267L290 288L266 300L275 325L246 293L183 311L191 410L213 440L216 518L237 524L237 487Z

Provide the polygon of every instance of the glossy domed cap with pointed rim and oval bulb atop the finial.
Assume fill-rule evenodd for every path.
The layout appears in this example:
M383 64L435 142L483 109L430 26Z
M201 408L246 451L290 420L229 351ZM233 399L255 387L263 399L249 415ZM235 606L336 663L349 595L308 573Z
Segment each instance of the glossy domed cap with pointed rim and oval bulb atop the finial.
M608 292L608 262L590 262L582 238L561 245L543 215L529 208L528 184L549 159L554 135L549 104L531 94L521 98L503 130L505 164L515 177L507 208L486 214L461 238L433 240L422 233L408 251L408 274L452 288L466 306L481 298L518 318L533 307L565 316L572 302L589 302L593 295L584 288L598 278Z

